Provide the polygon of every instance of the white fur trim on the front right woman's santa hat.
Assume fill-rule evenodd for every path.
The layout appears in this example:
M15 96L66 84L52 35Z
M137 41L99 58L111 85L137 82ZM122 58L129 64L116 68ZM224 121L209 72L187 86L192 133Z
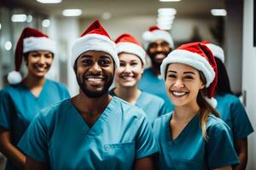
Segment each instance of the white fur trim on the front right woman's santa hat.
M173 50L167 55L166 59L163 60L160 71L161 76L166 80L166 66L171 63L181 63L184 65L190 65L195 69L202 71L207 79L206 87L208 88L215 77L215 72L210 63L202 57L200 54L192 53L184 49Z

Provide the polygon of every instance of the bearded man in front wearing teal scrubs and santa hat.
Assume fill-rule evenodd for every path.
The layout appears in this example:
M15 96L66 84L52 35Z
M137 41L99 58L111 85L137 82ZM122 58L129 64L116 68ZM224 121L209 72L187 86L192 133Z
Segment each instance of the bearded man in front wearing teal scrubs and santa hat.
M73 44L79 94L52 105L20 140L26 169L153 169L152 127L141 109L111 97L116 45L96 20Z

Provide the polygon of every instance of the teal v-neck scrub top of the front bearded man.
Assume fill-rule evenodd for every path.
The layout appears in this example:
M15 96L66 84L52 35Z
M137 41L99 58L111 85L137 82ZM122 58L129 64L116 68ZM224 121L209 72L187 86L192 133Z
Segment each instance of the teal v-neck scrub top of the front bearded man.
M33 120L19 143L26 156L56 169L131 169L135 159L157 152L153 130L136 106L113 97L89 127L70 99Z

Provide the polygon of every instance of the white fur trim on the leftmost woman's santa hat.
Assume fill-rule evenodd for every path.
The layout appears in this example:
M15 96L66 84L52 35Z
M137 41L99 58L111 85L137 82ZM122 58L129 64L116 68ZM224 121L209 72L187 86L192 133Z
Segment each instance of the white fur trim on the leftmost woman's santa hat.
M51 53L56 53L55 41L48 37L27 37L23 41L23 53L29 51L46 50Z

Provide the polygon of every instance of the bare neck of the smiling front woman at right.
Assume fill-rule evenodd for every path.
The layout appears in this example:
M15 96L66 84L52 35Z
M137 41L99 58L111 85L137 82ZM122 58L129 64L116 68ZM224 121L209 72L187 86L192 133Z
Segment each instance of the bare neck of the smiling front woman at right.
M199 105L183 105L175 106L173 119L177 122L189 122L194 116L198 115L200 111Z

